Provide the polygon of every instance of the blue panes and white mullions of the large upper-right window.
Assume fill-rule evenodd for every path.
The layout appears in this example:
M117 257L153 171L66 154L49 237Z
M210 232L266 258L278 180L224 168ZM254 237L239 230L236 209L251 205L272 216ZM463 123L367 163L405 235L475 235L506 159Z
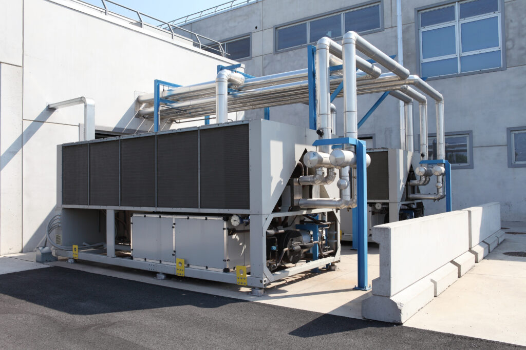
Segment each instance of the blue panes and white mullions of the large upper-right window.
M418 12L422 77L501 68L500 0L468 0Z

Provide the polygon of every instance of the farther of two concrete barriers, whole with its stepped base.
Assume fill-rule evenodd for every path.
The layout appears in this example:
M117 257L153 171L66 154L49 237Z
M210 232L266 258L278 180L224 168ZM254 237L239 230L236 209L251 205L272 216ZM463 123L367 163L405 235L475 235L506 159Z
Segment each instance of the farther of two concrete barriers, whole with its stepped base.
M504 232L500 230L500 203L463 210L469 215L469 249L475 262L479 262L504 240Z

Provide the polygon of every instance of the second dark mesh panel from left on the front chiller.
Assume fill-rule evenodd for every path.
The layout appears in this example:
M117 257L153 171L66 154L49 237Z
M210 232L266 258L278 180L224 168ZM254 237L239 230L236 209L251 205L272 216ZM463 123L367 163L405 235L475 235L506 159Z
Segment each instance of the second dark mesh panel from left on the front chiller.
M89 145L89 205L119 205L119 141Z

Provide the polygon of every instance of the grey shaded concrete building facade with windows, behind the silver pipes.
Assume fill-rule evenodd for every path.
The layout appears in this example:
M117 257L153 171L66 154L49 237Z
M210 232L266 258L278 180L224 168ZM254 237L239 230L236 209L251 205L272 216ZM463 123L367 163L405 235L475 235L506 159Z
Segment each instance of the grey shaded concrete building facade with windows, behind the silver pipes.
M524 220L526 2L401 3L403 65L428 77L445 99L453 210L499 201L503 220ZM341 38L348 30L358 31L389 55L398 54L396 0L259 0L174 23L227 43L227 52L254 76L306 68L308 45L322 36ZM379 96L358 98L359 118ZM342 99L335 104L336 133L341 134ZM245 118L263 118L263 111L248 111ZM432 139L434 108L429 108L428 118ZM308 128L308 106L271 108L270 119ZM418 119L413 125L418 150ZM369 139L368 147L399 148L398 101L388 97L359 132ZM432 184L422 190L433 191ZM426 201L426 214L443 211L443 201Z

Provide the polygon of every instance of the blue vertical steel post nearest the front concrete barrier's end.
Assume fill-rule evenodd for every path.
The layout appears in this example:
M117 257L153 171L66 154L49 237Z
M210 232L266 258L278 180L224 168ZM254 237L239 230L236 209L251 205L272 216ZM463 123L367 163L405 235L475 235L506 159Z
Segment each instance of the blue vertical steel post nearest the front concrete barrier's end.
M370 287L367 284L367 156L364 141L357 140L356 155L356 178L358 182L358 285L355 289L368 290Z

